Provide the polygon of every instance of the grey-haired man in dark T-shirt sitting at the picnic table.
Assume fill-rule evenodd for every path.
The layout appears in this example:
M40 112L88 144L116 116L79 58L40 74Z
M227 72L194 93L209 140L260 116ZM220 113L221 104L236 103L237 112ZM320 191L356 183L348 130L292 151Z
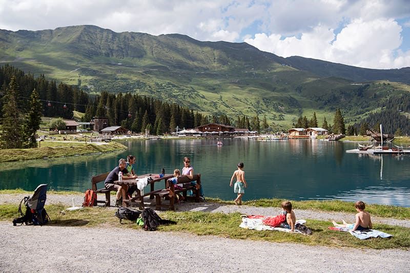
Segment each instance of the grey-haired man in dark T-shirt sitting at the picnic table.
M122 205L122 197L124 196L124 198L127 198L126 193L128 190L128 185L120 186L120 185L114 184L114 181L118 181L118 173L122 172L122 179L124 180L137 178L135 175L132 175L132 176L124 175L124 174L128 174L128 170L126 166L127 166L127 161L124 158L121 158L120 160L118 160L118 166L116 166L114 170L112 170L108 174L106 181L104 182L105 187L108 188L108 190L117 191L117 201L115 202L116 206Z

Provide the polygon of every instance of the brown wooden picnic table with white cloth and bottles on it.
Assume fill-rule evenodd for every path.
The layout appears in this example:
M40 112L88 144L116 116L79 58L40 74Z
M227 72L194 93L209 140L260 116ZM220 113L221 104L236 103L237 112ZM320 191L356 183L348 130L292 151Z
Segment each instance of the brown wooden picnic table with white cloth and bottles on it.
M140 208L144 207L144 196L149 195L150 199L154 199L154 184L156 182L159 182L161 180L165 181L165 187L167 186L167 180L174 177L173 174L165 174L163 175L163 177L160 177L159 174L145 174L145 175L138 175L137 179L122 179L122 181L114 181L114 184L117 185L128 185L128 186L132 186L132 185L137 185L137 180L138 179L143 179L143 178L147 178L147 177L151 177L152 180L148 181L148 184L150 185L150 192L145 194L145 195L141 195L141 192L138 190L137 188L137 195L131 199L128 199L127 193L125 192L125 190L122 190L122 206L127 206L127 201L135 201L138 200L140 202ZM148 185L147 184L147 185ZM159 190L160 191L160 190ZM125 197L125 198L124 198Z

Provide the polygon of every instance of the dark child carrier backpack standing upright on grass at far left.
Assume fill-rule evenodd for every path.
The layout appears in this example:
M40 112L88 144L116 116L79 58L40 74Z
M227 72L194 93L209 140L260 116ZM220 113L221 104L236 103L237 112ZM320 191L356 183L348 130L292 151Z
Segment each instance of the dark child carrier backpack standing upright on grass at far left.
M44 225L50 221L44 205L47 198L47 184L40 184L34 191L33 196L26 196L20 201L18 205L18 214L21 217L13 219L13 225L16 224L33 224L33 225ZM23 213L24 208L22 208L22 203L26 206L25 213Z

